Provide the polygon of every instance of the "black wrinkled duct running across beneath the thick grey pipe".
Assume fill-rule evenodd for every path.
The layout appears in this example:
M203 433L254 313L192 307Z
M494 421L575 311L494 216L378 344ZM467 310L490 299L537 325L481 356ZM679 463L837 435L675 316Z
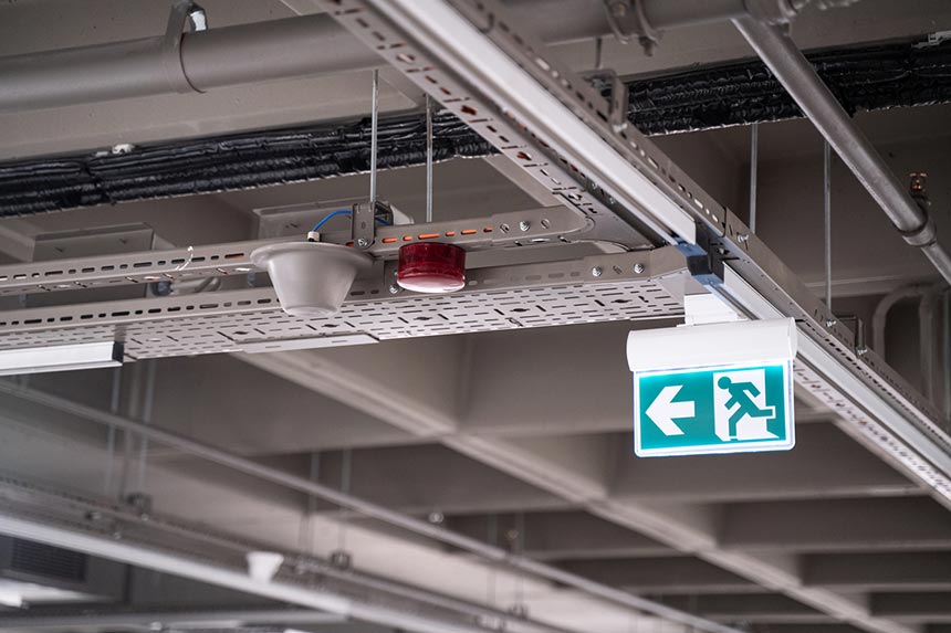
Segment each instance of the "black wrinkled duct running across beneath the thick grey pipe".
M951 43L864 48L809 55L850 113L951 102ZM630 120L648 135L802 116L759 62L635 81ZM422 116L379 126L379 167L422 165ZM459 119L433 122L436 160L489 156ZM369 169L369 122L267 130L151 147L0 163L0 218L132 200L300 182Z

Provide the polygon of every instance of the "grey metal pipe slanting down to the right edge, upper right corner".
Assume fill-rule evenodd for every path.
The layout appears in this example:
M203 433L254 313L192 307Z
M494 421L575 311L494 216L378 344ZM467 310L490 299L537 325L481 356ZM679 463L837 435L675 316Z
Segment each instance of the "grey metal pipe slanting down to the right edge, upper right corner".
M934 222L900 184L792 39L782 30L752 18L735 19L733 23L905 241L921 249L941 276L951 283L951 254L938 242Z

